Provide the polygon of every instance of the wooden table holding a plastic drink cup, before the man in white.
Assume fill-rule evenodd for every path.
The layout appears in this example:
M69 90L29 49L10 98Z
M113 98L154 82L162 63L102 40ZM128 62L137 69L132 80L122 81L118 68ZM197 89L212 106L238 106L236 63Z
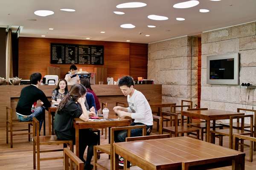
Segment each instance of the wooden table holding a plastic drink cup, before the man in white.
M118 116L108 116L109 119L117 119ZM99 117L99 119L103 119ZM131 124L131 119L120 118L119 120L105 120L105 121L88 121L84 122L79 118L75 118L73 122L73 127L76 129L76 155L79 156L79 129L89 129L89 128L105 128L105 127L121 127L121 126L129 126ZM110 134L110 128L108 130ZM109 135L110 136L110 135ZM110 142L110 137L109 137Z

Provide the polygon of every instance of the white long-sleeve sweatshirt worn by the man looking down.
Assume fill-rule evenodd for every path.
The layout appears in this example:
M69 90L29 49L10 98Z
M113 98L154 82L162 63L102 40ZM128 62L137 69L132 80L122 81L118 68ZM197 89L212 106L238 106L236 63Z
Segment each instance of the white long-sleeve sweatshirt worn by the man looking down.
M134 90L132 96L127 96L129 104L128 112L135 123L143 123L145 125L153 125L153 116L150 105L145 96L137 90Z

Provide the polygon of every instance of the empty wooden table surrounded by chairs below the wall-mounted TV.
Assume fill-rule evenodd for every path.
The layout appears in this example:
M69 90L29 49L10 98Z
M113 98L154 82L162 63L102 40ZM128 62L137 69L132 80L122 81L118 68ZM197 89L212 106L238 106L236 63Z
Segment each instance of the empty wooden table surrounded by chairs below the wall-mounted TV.
M222 111L216 109L197 110L197 111L181 111L181 124L183 125L183 118L187 116L188 119L204 119L206 121L206 141L210 142L210 121L213 121L213 130L215 130L215 120L230 119L230 116L244 115L244 113L237 113L231 111ZM188 121L189 122L189 121Z

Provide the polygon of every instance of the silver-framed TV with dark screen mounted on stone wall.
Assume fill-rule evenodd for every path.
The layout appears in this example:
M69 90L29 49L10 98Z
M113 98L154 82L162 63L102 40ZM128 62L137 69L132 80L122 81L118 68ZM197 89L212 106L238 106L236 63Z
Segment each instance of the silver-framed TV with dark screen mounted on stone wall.
M239 85L239 53L207 56L207 84Z

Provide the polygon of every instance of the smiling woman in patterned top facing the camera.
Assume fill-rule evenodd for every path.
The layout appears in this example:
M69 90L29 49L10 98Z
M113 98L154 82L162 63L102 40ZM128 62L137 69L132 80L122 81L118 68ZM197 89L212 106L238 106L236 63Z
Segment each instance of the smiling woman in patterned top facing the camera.
M67 81L59 79L57 87L52 91L52 103L60 103L68 93Z

